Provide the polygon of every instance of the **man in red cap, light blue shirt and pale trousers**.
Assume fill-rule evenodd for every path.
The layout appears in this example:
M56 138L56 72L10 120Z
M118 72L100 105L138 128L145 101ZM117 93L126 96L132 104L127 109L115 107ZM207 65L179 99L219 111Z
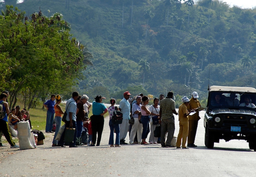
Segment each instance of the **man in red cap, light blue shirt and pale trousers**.
M119 103L119 110L123 113L123 122L119 124L120 127L120 144L128 144L125 142L125 138L129 129L129 118L130 118L130 103L128 101L130 97L129 91L124 92L124 98Z

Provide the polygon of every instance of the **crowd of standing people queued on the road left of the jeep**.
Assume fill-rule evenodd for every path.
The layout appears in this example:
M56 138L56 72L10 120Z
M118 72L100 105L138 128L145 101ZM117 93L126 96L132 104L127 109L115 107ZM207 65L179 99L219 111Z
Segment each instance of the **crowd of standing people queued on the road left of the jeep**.
M148 107L149 98L147 96L138 95L136 100L132 104L129 103L128 99L130 97L129 91L124 92L124 98L120 101L119 107L115 106L116 100L111 99L111 106L107 108L102 100L105 97L101 95L97 95L92 103L92 116L90 117L90 123L92 128L92 141L90 146L100 146L101 136L104 127L104 115L109 112L109 127L110 127L110 137L109 137L109 145L110 147L120 147L120 145L126 145L128 143L125 142L126 136L129 130L129 119L130 117L134 118L134 123L131 125L130 135L129 135L129 143L130 144L159 144L161 143L162 147L173 147L171 145L171 141L174 137L175 131L175 119L174 114L178 115L175 109L175 101L173 99L173 92L168 92L167 97L164 95L160 95L160 99L155 98L154 104ZM84 110L84 105L88 102L88 97L86 95L82 95L80 100L77 102L79 95L78 92L73 92L72 98L69 99L66 103L66 123L65 129L68 127L73 127L76 129L74 135L74 141L70 142L70 147L77 147L76 140L81 136L82 126L85 114L88 115L88 109ZM52 95L53 98L53 95ZM53 105L53 109L55 110L55 123L56 123L56 132L58 133L60 124L61 124L61 115L64 113L59 106L61 101L60 95L54 96L56 98L56 104ZM200 103L197 100L198 94L197 92L193 92L192 98L189 100L186 96L182 98L182 104L179 106L179 135L177 138L177 148L180 148L182 144L182 148L186 149L186 140L188 137L188 147L196 147L194 144L196 129L199 117L198 107L200 107ZM52 101L54 99L51 99ZM51 101L49 101L51 102ZM47 102L45 103L46 107L48 107ZM86 104L88 106L88 104ZM48 110L50 108L48 107ZM115 110L119 110L123 113L123 121L122 124L113 124L111 119ZM189 115L191 112L196 112L193 115ZM49 115L49 119L51 118L51 114L47 113L47 117ZM153 124L152 117L158 116L159 124L161 125L161 139L154 137L154 130L156 126ZM46 132L51 132L50 129L47 129L46 124ZM56 132L53 140L52 146L64 146L64 132L59 141L55 140ZM114 132L116 133L116 140L114 143ZM149 141L146 139L150 134ZM97 137L98 136L98 137ZM182 143L181 143L182 139Z

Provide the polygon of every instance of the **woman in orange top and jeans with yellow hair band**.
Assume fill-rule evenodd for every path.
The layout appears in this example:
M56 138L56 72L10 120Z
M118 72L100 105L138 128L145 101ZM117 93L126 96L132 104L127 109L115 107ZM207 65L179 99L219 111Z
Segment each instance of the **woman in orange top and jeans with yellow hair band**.
M64 114L64 112L62 111L62 109L59 105L61 103L61 96L57 95L55 98L57 101L56 104L54 105L54 110L55 110L54 122L56 124L56 130L55 130L55 134L54 134L53 141L52 141L52 147L55 147L58 144L58 140L55 140L55 138L56 138L56 136L60 130L60 127L61 127L61 115Z

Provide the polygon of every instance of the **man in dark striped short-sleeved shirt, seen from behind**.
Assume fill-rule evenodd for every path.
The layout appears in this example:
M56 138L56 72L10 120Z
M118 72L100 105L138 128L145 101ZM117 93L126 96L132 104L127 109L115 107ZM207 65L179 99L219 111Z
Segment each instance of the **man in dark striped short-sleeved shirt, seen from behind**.
M173 100L173 92L169 91L167 97L160 103L160 124L161 124L161 145L162 147L173 147L171 141L175 130L174 115L178 115L175 110L175 101ZM167 140L166 139L167 134Z

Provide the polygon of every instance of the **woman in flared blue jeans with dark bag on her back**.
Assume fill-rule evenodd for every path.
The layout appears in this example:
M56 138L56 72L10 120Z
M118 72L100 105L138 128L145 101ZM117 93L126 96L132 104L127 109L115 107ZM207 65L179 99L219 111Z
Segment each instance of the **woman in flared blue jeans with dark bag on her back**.
M110 104L111 106L108 108L108 113L109 113L109 128L110 128L110 135L109 135L109 142L108 144L110 145L110 147L121 147L120 146L120 130L119 130L119 124L113 124L111 119L112 119L112 116L113 116L113 113L115 111L115 103L116 103L116 100L115 99L111 99L110 100ZM117 110L118 107L116 107ZM115 146L114 146L114 129L116 130L116 143L115 143Z

